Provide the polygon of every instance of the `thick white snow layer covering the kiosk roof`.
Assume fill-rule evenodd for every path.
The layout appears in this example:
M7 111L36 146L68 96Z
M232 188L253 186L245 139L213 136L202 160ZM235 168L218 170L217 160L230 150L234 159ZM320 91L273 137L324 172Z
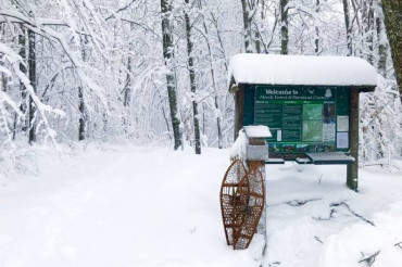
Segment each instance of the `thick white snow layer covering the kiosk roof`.
M234 80L233 80L234 79ZM377 72L354 56L236 54L229 84L376 87Z

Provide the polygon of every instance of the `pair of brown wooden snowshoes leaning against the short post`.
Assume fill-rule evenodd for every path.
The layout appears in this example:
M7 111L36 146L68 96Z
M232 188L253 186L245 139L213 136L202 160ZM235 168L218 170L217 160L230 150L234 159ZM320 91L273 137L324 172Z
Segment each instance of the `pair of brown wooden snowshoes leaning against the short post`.
M264 179L259 169L246 170L240 160L231 163L221 187L221 211L226 242L234 250L249 246L265 204Z

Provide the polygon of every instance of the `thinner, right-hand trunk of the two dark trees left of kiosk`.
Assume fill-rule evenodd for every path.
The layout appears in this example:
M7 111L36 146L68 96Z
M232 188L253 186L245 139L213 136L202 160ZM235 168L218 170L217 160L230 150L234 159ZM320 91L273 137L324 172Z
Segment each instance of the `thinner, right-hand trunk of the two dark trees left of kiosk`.
M196 154L201 154L201 141L200 141L200 123L198 118L198 104L196 101L196 73L194 73L194 63L192 59L192 48L193 43L191 40L191 25L190 25L190 17L187 13L187 8L189 0L185 0L185 21L186 21L186 38L187 38L187 55L188 55L188 72L190 75L190 89L192 93L192 118L193 118L193 127L194 127L194 143L196 143Z

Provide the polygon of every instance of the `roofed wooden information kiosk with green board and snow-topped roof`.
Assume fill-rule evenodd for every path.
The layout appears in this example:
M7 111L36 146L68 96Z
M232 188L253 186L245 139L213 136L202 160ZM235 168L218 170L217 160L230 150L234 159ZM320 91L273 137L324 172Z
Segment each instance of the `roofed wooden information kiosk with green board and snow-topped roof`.
M357 190L359 94L376 85L375 68L359 58L236 54L235 139L243 126L268 126L266 164L346 164Z

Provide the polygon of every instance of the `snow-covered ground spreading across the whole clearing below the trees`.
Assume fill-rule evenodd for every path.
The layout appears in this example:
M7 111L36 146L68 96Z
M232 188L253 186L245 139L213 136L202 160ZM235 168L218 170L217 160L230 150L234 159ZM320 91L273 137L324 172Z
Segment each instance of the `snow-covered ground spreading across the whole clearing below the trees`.
M226 245L218 192L229 151L38 151L37 175L0 175L1 267L402 266L402 173L267 165L267 246ZM78 152L77 152L78 151ZM360 263L361 262L361 263Z

